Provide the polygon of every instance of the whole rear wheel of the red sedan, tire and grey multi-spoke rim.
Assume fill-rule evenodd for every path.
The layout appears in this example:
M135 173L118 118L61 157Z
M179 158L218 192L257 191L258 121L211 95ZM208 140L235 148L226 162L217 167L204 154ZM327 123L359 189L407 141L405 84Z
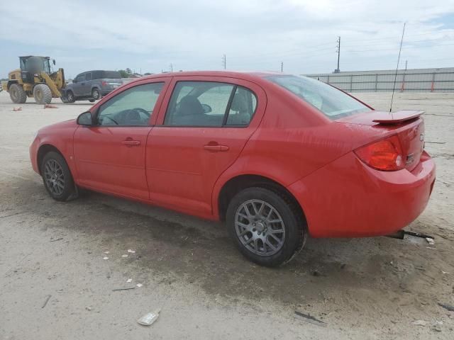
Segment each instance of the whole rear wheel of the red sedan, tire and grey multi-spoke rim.
M228 205L227 227L241 253L262 266L290 261L306 242L306 223L287 196L246 188Z

